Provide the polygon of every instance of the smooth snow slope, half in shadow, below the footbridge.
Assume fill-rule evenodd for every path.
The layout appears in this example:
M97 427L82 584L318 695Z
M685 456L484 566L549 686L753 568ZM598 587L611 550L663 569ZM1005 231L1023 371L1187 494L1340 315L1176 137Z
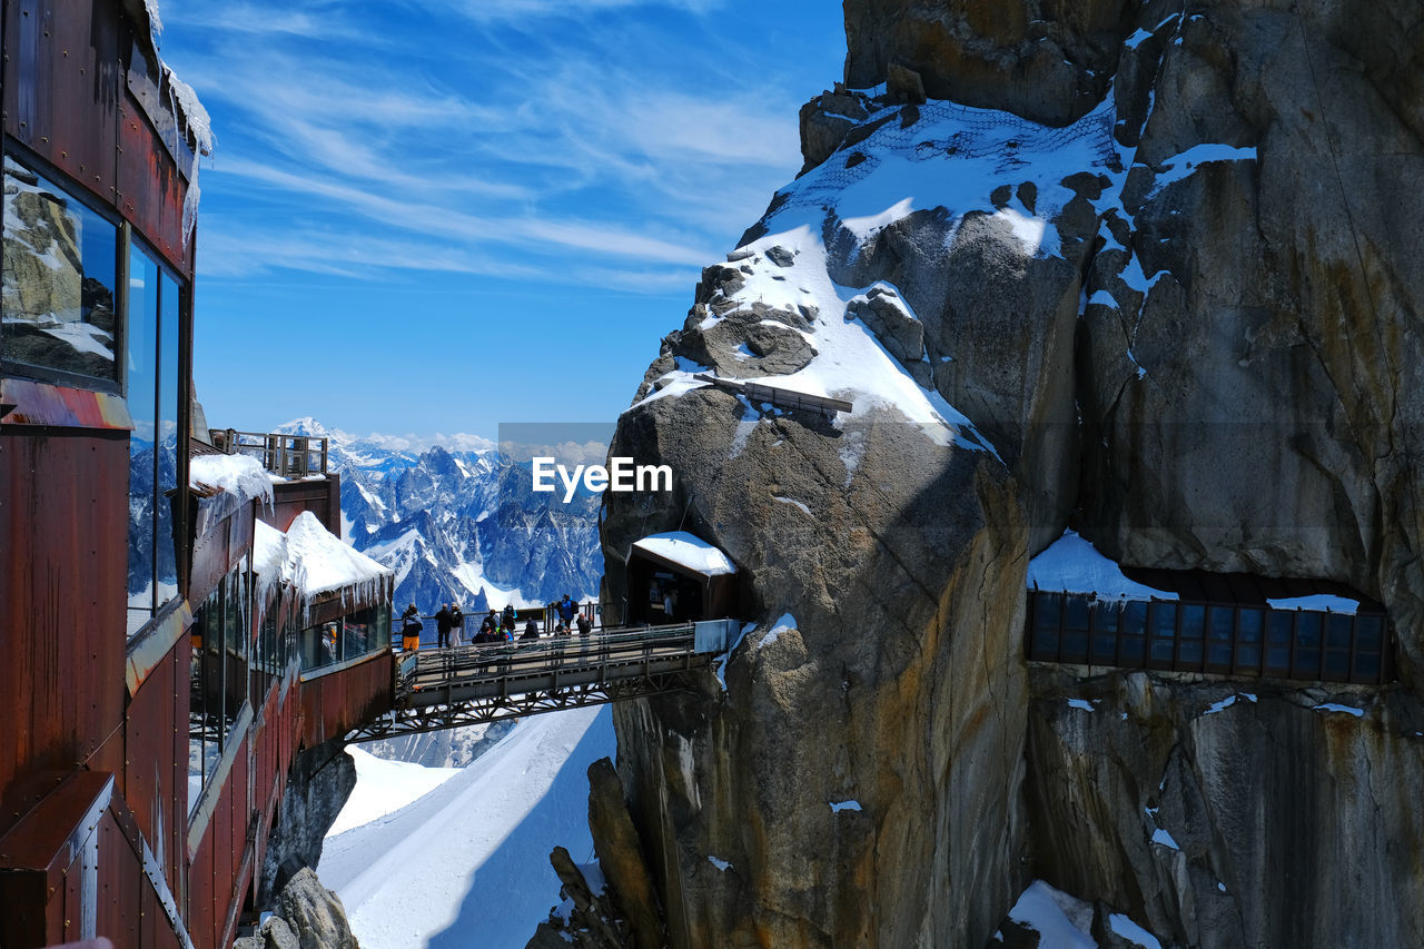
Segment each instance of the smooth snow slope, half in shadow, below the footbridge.
M318 872L365 949L524 946L561 902L550 851L592 859L588 765L614 754L607 707L525 718L466 768L357 750Z

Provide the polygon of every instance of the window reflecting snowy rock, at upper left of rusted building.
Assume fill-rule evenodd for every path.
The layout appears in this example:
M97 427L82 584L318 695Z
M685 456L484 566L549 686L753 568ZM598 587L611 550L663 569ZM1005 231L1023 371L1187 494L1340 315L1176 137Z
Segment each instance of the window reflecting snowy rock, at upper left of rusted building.
M118 245L112 222L4 157L0 356L7 366L118 388Z

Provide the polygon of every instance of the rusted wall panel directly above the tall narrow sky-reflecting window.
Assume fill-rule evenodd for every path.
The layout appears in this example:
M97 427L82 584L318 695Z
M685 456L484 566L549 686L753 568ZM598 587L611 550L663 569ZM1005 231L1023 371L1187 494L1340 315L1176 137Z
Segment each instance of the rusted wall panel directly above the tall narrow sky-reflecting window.
M189 272L182 245L187 184L125 85L120 93L118 211L179 272Z

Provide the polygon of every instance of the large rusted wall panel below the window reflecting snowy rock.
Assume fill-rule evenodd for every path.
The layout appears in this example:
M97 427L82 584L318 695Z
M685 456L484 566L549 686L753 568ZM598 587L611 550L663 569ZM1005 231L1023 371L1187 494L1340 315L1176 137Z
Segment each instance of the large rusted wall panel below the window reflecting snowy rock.
M0 430L0 788L90 761L124 717L128 443ZM64 683L56 688L54 683Z

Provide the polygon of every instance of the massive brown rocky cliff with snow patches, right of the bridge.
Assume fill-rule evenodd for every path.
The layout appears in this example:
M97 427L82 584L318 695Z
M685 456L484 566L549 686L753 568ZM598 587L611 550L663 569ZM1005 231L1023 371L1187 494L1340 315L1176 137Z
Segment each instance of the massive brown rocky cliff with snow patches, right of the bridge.
M1176 945L1420 942L1384 789L1417 779L1424 658L1424 11L846 20L852 88L803 110L802 177L703 272L614 445L678 490L607 499L609 590L682 526L756 620L725 690L617 712L672 942L983 945L1030 869ZM1078 721L1020 658L1024 563L1069 522L1129 564L1347 581L1401 685L1361 718L1286 684L1202 717L1222 687L1108 675Z

